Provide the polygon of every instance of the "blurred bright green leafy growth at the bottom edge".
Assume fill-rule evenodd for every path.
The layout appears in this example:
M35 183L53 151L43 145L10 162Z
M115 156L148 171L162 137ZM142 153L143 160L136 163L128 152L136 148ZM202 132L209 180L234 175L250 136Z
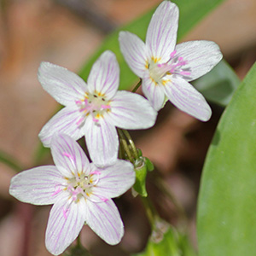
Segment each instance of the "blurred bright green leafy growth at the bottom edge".
M170 224L160 220L156 229L148 239L143 253L133 256L195 256L195 251L189 244L188 237L179 233Z

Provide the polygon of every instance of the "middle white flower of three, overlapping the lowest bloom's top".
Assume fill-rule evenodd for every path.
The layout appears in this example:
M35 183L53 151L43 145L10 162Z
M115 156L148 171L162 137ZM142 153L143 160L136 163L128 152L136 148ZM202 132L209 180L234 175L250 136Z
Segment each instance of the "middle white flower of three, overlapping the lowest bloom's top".
M154 108L143 96L118 91L119 64L111 51L105 51L90 70L88 84L64 67L43 62L38 70L44 90L66 108L61 109L39 133L49 147L55 132L75 140L85 136L90 158L98 166L117 159L119 139L115 127L146 129L154 125Z

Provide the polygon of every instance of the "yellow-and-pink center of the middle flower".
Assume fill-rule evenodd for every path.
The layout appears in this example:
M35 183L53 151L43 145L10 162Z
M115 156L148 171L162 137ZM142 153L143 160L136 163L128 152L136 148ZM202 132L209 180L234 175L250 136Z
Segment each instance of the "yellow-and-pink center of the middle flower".
M104 113L111 111L110 101L107 101L105 96L97 91L93 94L86 92L84 99L76 101L76 104L79 107L79 112L82 113L82 117L77 122L77 125L81 125L90 114L93 121L97 123Z

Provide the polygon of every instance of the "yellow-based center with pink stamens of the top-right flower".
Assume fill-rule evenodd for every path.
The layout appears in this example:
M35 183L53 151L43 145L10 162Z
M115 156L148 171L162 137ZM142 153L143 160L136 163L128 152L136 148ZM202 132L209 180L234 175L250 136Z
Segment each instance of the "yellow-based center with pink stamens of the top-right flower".
M148 61L147 67L150 78L155 84L164 85L166 83L166 79L164 79L166 75L180 75L183 79L189 79L190 69L188 67L184 67L188 64L188 61L184 61L183 57L175 55L176 50L172 52L169 61L166 63L160 63L160 60L154 57Z

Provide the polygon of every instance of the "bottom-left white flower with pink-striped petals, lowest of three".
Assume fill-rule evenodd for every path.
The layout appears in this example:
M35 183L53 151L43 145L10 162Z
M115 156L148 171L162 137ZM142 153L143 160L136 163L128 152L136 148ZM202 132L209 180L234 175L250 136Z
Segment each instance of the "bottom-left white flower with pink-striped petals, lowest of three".
M98 168L67 135L55 135L50 149L55 166L20 172L12 178L9 189L20 201L53 204L45 237L49 252L62 253L79 235L84 222L109 244L119 243L124 225L111 198L122 195L135 182L131 163L117 160L113 166Z

